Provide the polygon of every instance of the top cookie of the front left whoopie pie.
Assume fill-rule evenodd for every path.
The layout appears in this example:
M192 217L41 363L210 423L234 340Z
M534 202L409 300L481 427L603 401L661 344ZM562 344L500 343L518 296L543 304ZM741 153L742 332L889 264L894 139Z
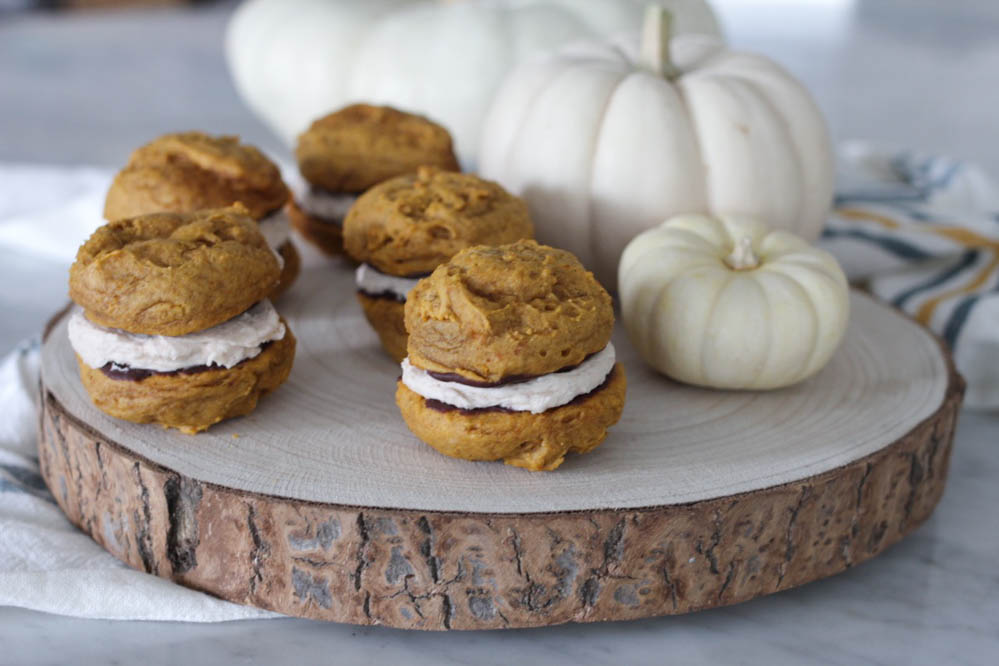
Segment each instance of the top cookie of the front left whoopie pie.
M69 271L69 295L101 326L185 335L270 294L281 271L245 208L155 213L109 222Z

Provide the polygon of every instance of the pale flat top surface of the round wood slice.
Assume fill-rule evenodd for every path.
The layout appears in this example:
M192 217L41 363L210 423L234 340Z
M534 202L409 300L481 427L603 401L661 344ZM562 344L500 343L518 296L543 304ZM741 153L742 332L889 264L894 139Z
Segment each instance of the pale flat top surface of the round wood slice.
M368 326L349 267L306 268L278 307L298 338L287 383L252 414L197 437L98 411L80 383L66 318L46 339L42 377L78 421L192 479L324 504L513 514L683 504L797 481L903 437L947 388L934 338L860 294L830 364L777 391L671 382L618 327L628 377L621 420L595 451L534 474L447 458L413 436L395 405L399 366Z

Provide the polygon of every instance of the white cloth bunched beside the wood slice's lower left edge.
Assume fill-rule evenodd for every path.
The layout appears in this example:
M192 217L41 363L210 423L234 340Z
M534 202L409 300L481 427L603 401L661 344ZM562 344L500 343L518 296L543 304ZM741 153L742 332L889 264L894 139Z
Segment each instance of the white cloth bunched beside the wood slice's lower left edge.
M75 617L278 617L130 569L63 516L38 472L38 343L0 362L0 605Z

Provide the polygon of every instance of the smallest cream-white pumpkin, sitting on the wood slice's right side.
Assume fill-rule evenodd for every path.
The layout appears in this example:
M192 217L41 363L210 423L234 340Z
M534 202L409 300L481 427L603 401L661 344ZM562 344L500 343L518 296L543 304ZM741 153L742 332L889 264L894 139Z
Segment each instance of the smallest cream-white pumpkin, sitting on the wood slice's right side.
M788 386L821 370L849 316L831 254L748 217L682 215L621 256L621 315L642 357L688 384Z

